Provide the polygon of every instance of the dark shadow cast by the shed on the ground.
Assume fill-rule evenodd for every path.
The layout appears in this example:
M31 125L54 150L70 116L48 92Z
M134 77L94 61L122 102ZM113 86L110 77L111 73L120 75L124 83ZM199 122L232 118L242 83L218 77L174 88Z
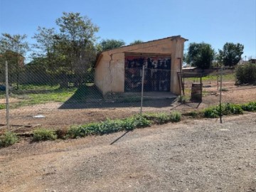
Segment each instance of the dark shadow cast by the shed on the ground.
M144 92L143 107L171 107L177 99L170 92ZM102 97L95 85L82 85L59 109L140 107L140 92L112 93Z

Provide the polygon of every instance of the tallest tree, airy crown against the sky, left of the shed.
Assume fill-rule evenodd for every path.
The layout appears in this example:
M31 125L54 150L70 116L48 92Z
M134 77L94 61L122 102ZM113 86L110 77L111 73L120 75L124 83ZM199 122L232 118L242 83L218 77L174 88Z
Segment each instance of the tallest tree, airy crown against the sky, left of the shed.
M94 43L95 33L98 27L91 22L87 16L80 16L79 13L63 13L63 16L56 20L60 27L60 49L67 57L71 70L75 73L75 85L82 83L92 59L95 56Z

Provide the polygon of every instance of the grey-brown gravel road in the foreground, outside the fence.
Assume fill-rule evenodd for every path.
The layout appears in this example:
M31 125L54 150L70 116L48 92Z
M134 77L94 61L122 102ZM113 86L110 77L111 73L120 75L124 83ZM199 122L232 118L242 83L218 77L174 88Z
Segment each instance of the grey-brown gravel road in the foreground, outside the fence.
M0 149L0 191L256 191L256 115Z

